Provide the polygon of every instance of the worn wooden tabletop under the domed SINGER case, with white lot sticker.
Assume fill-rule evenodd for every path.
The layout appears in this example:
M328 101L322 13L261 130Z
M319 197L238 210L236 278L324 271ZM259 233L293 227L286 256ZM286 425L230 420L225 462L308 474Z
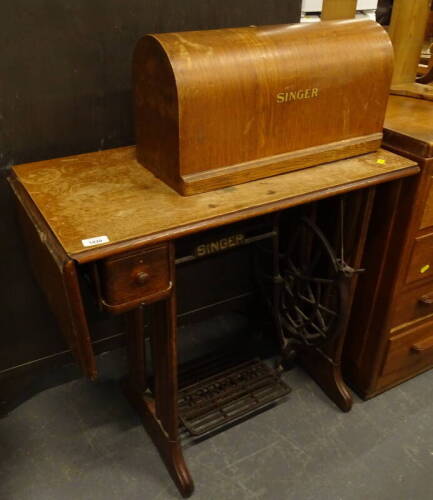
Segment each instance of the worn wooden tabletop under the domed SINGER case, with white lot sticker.
M181 196L125 147L18 165L16 180L79 262L415 174L379 150L275 177ZM86 247L83 240L106 237Z

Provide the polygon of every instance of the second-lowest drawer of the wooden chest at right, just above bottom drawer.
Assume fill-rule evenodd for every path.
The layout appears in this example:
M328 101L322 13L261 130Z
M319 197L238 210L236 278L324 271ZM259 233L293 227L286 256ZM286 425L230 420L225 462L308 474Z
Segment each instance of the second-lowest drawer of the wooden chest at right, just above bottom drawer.
M417 286L394 299L391 328L433 314L433 282Z

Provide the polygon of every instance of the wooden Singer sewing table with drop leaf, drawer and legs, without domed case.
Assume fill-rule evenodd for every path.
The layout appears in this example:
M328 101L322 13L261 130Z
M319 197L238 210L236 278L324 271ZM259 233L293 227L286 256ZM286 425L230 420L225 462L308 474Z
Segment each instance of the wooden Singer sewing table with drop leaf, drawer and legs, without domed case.
M125 147L18 165L12 169L10 184L35 276L76 359L90 378L94 379L97 372L81 273L86 270L91 277L101 308L126 313L130 366L126 393L180 492L189 496L193 482L179 439L176 241L211 228L356 192L362 199L357 220L350 221L357 233L350 264L356 266L375 186L390 183L397 199L402 179L417 172L415 162L379 150L184 197L137 163L134 147ZM151 335L152 392L145 368L142 314L142 305L150 303L155 303L159 325ZM350 309L350 297L346 308ZM340 335L326 352L307 352L304 366L347 411L351 395L339 366L343 338L344 334Z

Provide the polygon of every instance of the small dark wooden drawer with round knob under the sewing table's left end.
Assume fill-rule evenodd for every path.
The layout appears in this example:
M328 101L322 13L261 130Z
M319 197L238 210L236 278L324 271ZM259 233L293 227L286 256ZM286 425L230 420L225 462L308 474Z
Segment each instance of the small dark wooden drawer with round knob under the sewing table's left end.
M168 247L105 259L100 264L99 282L101 298L109 307L151 301L171 286Z

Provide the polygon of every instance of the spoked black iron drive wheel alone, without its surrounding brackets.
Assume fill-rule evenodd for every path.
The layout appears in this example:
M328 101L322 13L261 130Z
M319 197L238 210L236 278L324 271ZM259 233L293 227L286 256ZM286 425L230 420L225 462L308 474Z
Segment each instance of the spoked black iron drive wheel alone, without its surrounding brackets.
M278 311L284 337L306 346L330 341L344 316L348 280L326 237L309 218L297 221L280 265Z

